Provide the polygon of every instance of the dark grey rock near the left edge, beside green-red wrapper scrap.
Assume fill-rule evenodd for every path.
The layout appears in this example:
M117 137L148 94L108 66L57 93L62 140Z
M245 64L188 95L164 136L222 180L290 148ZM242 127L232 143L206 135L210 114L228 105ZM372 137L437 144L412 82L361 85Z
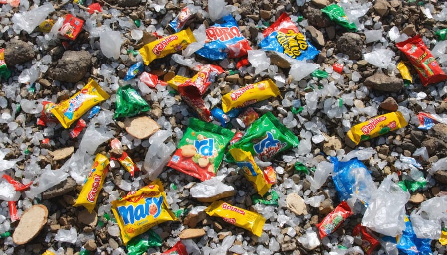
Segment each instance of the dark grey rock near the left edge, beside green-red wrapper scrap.
M23 64L30 61L35 56L33 48L27 42L11 39L6 43L4 61L9 68L13 68L16 64Z

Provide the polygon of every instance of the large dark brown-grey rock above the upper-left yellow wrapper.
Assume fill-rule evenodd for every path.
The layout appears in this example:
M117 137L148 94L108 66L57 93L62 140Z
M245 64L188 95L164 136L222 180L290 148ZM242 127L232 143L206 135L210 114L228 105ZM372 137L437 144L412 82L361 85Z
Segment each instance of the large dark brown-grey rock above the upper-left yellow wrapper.
M87 51L66 51L53 70L53 78L76 83L90 70L91 54Z

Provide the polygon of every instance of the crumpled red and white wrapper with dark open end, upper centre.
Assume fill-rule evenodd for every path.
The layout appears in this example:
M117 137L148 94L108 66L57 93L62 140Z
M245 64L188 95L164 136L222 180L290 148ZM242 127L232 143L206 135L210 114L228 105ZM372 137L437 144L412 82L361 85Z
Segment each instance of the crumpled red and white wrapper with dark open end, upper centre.
M202 97L208 86L223 72L224 69L217 65L206 64L201 66L200 71L196 75L178 86L178 92L182 96L190 98Z

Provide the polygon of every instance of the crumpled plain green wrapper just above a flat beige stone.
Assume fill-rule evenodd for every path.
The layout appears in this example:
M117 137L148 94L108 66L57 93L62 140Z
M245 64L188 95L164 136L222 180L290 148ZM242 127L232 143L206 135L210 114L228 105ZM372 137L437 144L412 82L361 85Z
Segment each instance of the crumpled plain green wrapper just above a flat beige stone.
M149 104L131 85L120 87L116 92L115 115L113 118L131 117L150 110Z

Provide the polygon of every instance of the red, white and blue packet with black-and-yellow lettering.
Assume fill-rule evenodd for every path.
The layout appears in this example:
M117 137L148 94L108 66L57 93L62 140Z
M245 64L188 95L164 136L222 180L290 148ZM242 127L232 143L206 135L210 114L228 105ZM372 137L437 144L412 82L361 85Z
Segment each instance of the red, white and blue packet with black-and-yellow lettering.
M277 51L297 60L311 60L320 53L301 34L285 12L262 32L259 46L266 51Z

